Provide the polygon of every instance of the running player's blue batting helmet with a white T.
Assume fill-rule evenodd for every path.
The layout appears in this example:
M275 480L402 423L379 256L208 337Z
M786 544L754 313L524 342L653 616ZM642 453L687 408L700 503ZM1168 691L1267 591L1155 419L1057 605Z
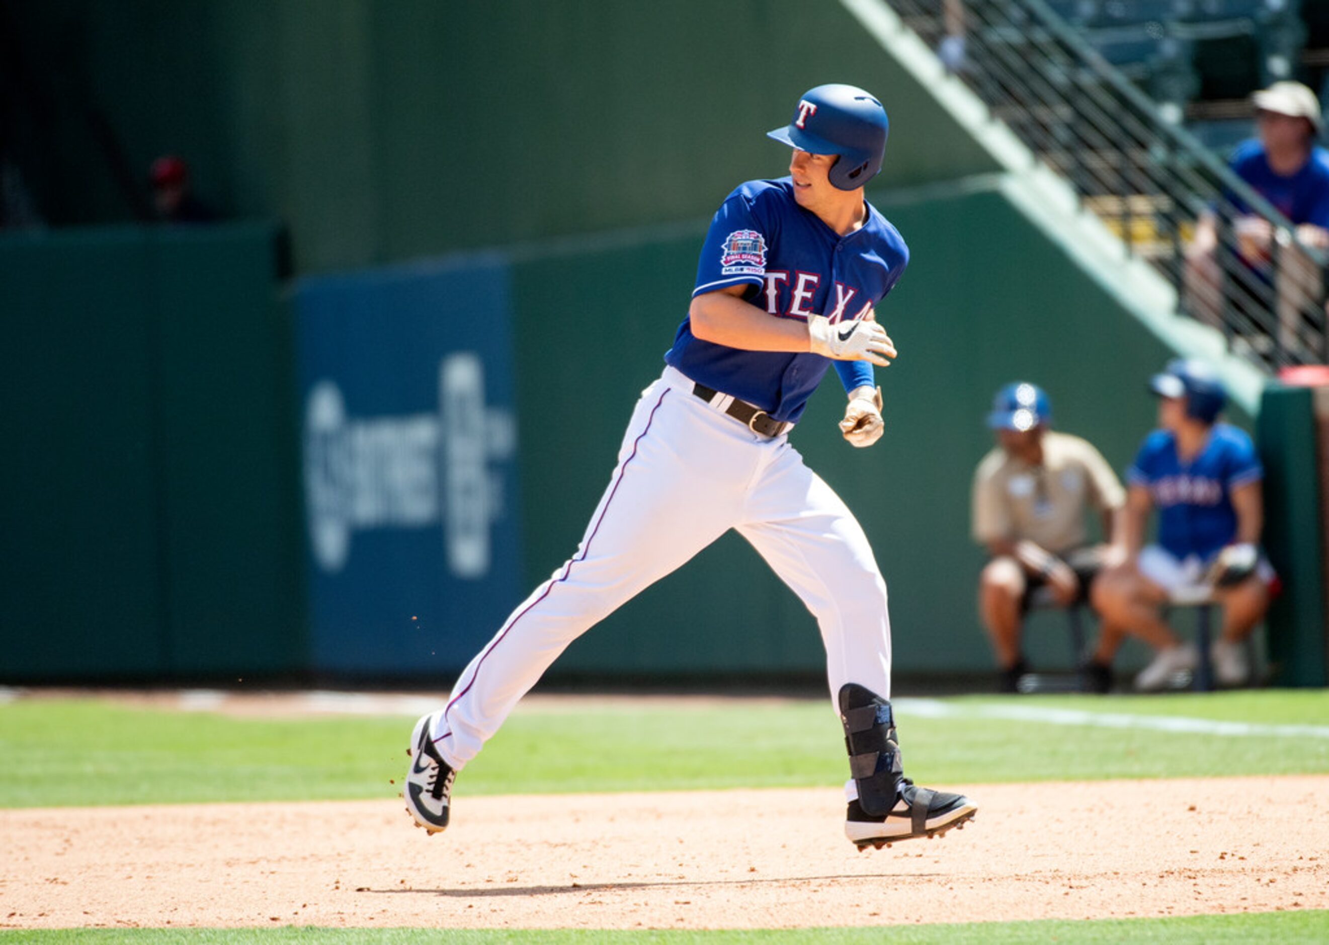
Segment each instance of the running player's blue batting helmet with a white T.
M856 85L819 85L793 108L785 128L767 134L809 154L839 154L831 183L855 190L881 170L890 121L876 97Z

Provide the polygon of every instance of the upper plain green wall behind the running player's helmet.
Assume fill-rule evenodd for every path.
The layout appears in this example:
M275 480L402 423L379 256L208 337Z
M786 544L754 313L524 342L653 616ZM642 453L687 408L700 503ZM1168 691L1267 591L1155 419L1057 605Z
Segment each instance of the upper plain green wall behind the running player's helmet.
M0 3L11 146L52 223L132 219L173 152L300 271L708 215L784 173L827 81L882 97L885 182L995 170L836 0Z

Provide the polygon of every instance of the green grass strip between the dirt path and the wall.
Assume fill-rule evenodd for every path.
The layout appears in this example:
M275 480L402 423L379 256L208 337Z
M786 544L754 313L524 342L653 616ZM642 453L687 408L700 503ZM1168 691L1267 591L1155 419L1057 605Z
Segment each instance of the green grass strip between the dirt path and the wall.
M1329 694L958 698L898 712L929 783L1329 772L1329 738L1051 724L985 712L1074 710L1329 727ZM413 719L231 718L35 699L0 706L0 807L391 796ZM464 774L468 793L813 787L844 779L829 703L517 711ZM88 786L96 783L96 792Z

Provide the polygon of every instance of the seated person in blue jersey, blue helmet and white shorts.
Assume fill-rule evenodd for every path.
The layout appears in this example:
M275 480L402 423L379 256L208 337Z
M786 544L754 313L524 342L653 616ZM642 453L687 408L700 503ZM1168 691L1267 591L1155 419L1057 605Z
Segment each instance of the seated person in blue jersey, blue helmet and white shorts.
M1251 675L1241 642L1264 618L1275 582L1259 552L1260 460L1245 432L1217 423L1227 393L1205 364L1170 362L1150 389L1160 397L1160 429L1144 439L1127 473L1122 564L1099 578L1094 603L1104 635L1110 627L1131 627L1158 647L1135 679L1136 688L1148 691L1166 687L1176 673L1193 671L1197 659L1195 646L1177 641L1160 609L1174 595L1211 597L1223 607L1213 673L1219 683L1240 686ZM1158 544L1144 548L1155 508Z

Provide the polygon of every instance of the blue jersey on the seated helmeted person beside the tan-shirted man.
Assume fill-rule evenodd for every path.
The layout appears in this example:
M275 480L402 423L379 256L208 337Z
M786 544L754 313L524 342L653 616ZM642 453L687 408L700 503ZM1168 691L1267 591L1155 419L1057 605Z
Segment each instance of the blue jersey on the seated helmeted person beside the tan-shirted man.
M1208 443L1187 464L1176 455L1176 436L1154 431L1126 473L1131 485L1150 490L1159 510L1159 545L1177 558L1203 560L1236 538L1232 490L1263 476L1251 437L1225 423L1213 425Z

